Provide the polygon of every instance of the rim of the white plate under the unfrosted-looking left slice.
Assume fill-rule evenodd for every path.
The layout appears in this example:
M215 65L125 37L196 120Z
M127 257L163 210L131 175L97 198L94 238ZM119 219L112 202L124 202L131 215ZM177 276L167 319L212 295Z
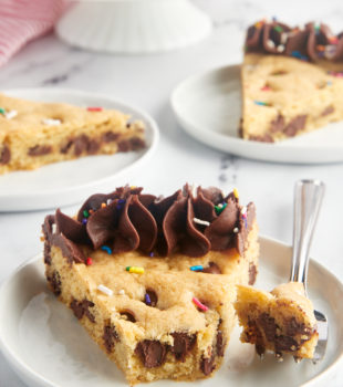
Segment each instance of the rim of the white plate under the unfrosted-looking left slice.
M4 94L9 94L10 96L15 94L15 97L20 97L19 95L21 93L31 93L32 92L32 93L38 93L38 94L39 93L48 93L48 94L51 93L52 95L55 94L56 96L59 93L65 93L65 94L70 94L70 95L75 96L75 97L80 96L80 97L85 97L85 98L89 98L89 97L94 98L95 97L95 98L107 100L108 103L114 103L115 105L121 106L121 107L115 107L115 109L124 108L124 109L127 109L128 113L131 113L131 114L136 114L136 113L139 114L144 118L144 122L148 125L149 132L150 132L150 145L147 146L145 150L143 150L143 154L136 160L134 160L129 165L125 166L121 170L116 171L115 174L112 174L110 176L103 177L103 178L97 179L97 180L92 180L92 181L89 181L89 182L85 182L82 185L77 185L75 187L66 187L66 188L64 187L63 189L60 189L58 191L56 190L46 190L44 192L41 192L40 190L37 190L37 191L32 191L32 192L29 192L25 195L15 192L15 194L11 195L11 198L15 198L19 200L19 199L24 199L24 198L30 198L30 199L32 199L32 198L45 198L49 195L67 195L71 192L75 192L77 190L87 189L94 185L103 185L103 184L110 182L114 177L122 176L123 174L128 172L135 166L141 165L142 163L145 163L152 155L154 155L154 153L156 151L156 148L158 146L159 137L160 137L159 128L158 128L156 121L152 117L152 115L148 112L146 112L145 109L137 107L134 104L129 104L125 101L113 97L113 96L107 95L105 93L93 93L90 91L82 91L82 90L67 88L67 87L18 87L18 88L15 87L15 88L8 88L8 90L4 90L2 92ZM18 93L18 96L17 96L17 93ZM61 163L63 163L63 161L61 161ZM28 172L31 172L31 170L28 170ZM6 200L7 198L9 198L9 195L1 194L1 191L0 191L0 202L2 200ZM46 208L46 207L42 207L42 209L43 208ZM3 211L3 209L1 211ZM20 210L18 210L18 211L20 211Z

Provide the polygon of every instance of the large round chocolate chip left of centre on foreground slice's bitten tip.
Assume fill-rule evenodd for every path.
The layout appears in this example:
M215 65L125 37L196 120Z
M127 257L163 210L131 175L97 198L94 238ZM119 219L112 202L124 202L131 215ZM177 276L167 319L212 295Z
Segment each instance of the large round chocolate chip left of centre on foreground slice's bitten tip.
M160 366L166 358L167 348L158 341L145 339L136 346L135 354L146 368Z

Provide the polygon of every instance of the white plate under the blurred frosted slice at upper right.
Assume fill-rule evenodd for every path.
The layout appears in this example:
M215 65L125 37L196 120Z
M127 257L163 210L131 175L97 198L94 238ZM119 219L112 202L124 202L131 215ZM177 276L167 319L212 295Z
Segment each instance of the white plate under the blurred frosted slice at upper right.
M258 160L319 164L343 161L343 123L277 144L238 137L241 117L240 66L231 65L194 75L172 94L178 123L199 142Z

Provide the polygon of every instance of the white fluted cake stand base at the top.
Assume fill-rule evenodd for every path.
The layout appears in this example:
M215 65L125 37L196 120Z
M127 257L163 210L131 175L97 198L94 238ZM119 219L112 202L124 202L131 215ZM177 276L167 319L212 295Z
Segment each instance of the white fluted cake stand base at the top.
M189 0L89 0L72 4L55 30L86 50L152 53L204 39L211 20Z

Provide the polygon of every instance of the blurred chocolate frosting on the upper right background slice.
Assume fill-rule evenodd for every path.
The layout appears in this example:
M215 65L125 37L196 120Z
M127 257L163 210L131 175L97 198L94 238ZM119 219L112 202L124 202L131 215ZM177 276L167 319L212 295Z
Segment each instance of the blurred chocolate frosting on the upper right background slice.
M304 61L343 61L343 32L334 35L326 24L310 22L303 29L264 20L250 25L246 51L288 55Z

